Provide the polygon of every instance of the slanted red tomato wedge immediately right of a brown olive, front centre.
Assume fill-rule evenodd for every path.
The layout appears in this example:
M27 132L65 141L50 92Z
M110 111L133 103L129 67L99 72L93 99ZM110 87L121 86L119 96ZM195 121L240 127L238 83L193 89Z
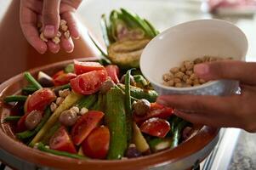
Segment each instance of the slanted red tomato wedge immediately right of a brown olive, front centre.
M74 144L81 144L88 137L104 116L102 111L88 111L82 115L71 129L71 138Z

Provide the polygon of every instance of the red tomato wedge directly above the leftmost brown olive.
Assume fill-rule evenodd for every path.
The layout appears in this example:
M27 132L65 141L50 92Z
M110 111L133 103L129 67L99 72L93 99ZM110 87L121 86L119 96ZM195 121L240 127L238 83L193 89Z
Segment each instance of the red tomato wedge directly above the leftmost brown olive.
M56 95L50 88L41 88L26 99L26 112L44 111L56 99Z

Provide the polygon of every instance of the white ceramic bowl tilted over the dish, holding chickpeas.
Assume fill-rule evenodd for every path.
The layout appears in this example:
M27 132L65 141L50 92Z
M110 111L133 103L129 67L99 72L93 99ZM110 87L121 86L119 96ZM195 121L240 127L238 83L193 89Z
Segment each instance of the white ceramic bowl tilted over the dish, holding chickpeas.
M235 25L224 20L194 20L168 28L151 40L140 57L140 69L158 94L228 95L239 83L230 80L207 82L191 88L162 85L162 75L185 60L204 55L242 60L247 38Z

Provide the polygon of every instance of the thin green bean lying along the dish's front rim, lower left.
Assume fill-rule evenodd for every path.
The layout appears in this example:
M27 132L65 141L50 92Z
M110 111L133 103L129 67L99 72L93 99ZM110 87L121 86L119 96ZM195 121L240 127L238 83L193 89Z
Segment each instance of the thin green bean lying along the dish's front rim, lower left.
M37 143L37 149L44 151L44 152L48 152L57 156L66 156L66 157L71 157L71 158L75 158L75 159L88 159L85 156L80 156L77 154L71 154L69 152L65 152L65 151L59 151L59 150L51 150L48 149L47 147L45 147L45 145L43 143Z

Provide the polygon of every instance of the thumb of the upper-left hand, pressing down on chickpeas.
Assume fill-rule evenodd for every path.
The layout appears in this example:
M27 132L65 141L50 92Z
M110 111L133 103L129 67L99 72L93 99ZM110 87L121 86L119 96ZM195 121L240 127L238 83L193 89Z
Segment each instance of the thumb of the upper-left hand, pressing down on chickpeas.
M57 35L60 24L60 0L43 1L43 35L53 38Z

